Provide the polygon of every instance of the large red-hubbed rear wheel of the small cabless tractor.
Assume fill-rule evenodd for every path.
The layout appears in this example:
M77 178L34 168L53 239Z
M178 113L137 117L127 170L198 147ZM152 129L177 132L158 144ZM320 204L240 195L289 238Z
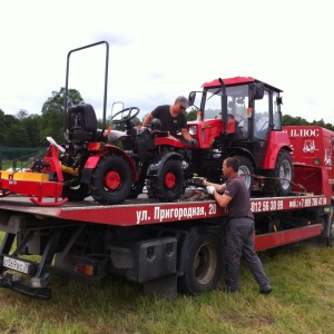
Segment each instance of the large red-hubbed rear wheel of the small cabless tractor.
M92 171L91 197L100 204L124 202L131 188L129 165L115 155L102 156Z

